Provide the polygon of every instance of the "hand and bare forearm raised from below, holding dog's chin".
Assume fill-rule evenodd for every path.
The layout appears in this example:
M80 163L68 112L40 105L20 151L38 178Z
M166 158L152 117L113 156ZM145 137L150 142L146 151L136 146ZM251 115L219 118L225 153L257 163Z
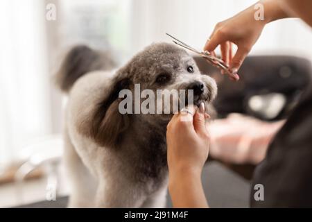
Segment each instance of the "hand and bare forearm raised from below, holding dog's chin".
M167 126L168 188L173 207L208 207L200 178L210 142L202 105L197 111L189 108L193 115L175 114Z

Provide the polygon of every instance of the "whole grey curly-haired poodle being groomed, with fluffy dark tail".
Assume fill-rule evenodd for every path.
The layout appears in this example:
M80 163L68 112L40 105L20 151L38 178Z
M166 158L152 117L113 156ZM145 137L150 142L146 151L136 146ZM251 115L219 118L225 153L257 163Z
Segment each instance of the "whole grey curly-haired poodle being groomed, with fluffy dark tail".
M120 92L135 94L136 84L155 94L191 89L193 103L207 106L216 83L173 44L152 44L117 71L107 71L111 68L107 54L76 46L58 73L60 88L69 94L64 119L69 207L165 207L166 125L173 112L121 114Z

